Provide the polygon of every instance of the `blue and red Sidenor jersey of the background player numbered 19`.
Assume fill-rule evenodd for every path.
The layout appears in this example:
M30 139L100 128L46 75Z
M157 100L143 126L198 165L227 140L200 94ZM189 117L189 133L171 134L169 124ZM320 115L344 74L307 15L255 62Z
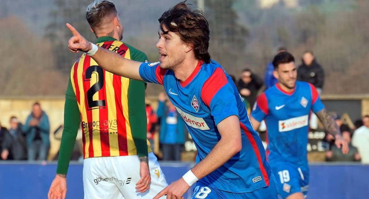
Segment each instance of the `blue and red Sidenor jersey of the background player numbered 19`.
M324 108L315 87L297 81L293 92L275 84L256 100L251 115L267 129L268 161L307 164L309 116Z

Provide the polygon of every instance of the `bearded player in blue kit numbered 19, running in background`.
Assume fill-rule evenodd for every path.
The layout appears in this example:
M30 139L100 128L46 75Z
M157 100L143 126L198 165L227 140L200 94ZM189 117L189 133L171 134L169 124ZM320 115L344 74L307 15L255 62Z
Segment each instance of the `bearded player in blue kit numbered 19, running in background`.
M277 84L263 92L251 113L255 129L265 120L267 128L267 159L276 175L279 193L287 199L306 197L309 184L307 163L308 120L311 111L323 122L328 133L336 138L342 153L348 152L348 144L334 119L327 114L315 87L296 81L294 57L286 52L278 53L273 60Z

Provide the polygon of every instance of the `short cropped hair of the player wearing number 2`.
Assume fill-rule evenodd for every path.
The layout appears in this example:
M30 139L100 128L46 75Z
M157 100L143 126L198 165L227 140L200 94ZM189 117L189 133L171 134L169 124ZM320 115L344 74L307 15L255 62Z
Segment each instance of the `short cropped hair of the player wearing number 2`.
M86 19L91 28L99 27L108 14L117 14L115 5L110 0L94 0L87 6Z

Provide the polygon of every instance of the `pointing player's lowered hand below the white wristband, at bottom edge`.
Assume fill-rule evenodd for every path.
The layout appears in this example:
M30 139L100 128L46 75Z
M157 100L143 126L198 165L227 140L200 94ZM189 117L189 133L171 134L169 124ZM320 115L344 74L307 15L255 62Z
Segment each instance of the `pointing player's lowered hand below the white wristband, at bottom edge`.
M159 199L160 197L166 195L167 199L183 199L183 194L188 191L190 186L184 181L183 178L173 182L168 185L165 189L159 192L154 199Z

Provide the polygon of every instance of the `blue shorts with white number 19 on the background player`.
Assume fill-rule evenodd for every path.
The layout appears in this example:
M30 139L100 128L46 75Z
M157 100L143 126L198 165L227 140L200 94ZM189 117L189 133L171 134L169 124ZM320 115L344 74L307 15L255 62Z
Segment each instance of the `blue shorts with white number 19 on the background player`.
M306 197L309 189L309 166L286 162L270 162L270 168L277 179L277 186L282 198L302 192Z

